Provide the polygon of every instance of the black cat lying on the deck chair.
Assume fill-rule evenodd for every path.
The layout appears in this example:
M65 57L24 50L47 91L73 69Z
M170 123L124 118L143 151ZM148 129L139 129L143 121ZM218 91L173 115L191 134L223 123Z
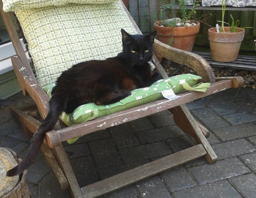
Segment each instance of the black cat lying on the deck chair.
M78 63L58 77L46 119L33 135L25 158L7 176L20 174L32 164L45 133L54 128L62 111L71 113L85 103L115 103L130 95L131 90L147 87L160 78L159 73L152 73L148 63L156 31L145 35L121 32L123 52L117 57Z

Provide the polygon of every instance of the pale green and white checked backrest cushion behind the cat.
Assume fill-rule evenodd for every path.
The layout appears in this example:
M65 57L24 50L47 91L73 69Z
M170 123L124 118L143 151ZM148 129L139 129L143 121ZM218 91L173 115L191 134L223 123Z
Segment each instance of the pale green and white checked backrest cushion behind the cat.
M75 63L117 55L122 51L121 28L130 34L138 33L121 0L80 0L80 4L60 6L55 5L61 0L44 1L55 4L30 4L28 9L15 9L14 5L10 9L20 22L42 87L55 82L62 71ZM3 1L4 6L6 2Z

